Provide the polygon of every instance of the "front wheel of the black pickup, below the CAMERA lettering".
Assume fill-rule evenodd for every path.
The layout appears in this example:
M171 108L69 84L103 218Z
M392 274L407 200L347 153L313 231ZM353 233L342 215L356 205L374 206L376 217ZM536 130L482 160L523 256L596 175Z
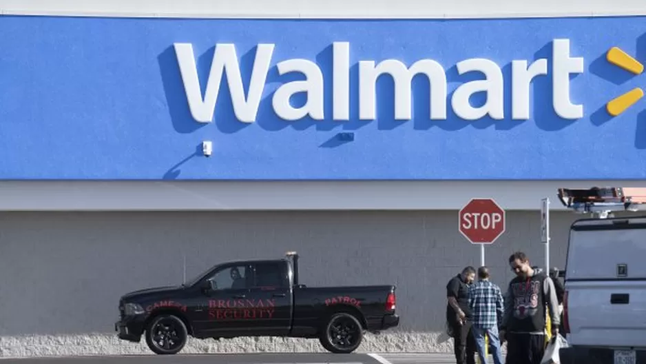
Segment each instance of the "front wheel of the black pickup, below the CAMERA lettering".
M177 354L187 339L186 325L172 314L156 316L146 327L146 343L155 354Z

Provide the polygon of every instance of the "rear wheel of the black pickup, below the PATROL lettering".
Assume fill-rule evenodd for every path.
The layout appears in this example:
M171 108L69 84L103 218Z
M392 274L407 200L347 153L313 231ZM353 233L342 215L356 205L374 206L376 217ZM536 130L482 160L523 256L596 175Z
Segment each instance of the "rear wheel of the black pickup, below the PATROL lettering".
M330 319L321 330L319 341L321 345L335 354L348 354L361 345L364 331L361 323L353 314L339 312Z

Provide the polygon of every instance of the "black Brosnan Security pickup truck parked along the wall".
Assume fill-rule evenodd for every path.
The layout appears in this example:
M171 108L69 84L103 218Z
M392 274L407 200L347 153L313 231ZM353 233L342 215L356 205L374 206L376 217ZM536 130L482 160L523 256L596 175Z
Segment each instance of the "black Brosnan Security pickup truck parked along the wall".
M291 258L291 259L290 259ZM333 353L359 347L364 332L399 325L395 285L306 287L298 254L222 263L176 287L130 292L119 301L118 338L176 354L188 336L318 338Z

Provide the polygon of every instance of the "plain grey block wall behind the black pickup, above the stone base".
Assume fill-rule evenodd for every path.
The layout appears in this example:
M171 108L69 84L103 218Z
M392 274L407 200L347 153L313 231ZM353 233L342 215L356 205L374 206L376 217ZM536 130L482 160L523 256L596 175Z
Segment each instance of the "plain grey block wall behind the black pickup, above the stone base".
M552 213L552 264L563 267L567 228ZM543 265L539 212L508 212L487 249L493 281L508 255ZM397 285L398 332L443 330L446 281L479 264L457 232L457 211L427 212L7 212L0 214L0 336L112 332L118 297L181 283L229 259L301 255L307 285Z

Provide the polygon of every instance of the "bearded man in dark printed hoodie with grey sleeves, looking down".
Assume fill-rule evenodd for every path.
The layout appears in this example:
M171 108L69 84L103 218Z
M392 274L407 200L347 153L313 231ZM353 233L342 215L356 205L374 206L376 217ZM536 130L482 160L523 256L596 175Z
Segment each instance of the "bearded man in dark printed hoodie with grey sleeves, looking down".
M501 340L507 341L506 363L540 364L545 354L545 307L550 309L552 336L561 323L554 282L534 270L523 252L512 254L509 265L516 278L509 283L500 328Z

